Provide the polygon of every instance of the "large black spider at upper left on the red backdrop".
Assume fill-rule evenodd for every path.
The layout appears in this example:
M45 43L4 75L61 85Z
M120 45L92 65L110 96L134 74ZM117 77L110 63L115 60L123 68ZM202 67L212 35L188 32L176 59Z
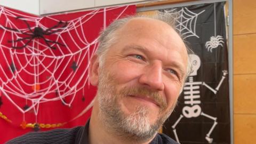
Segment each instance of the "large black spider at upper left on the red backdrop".
M16 19L22 19L22 18L21 17L17 17ZM49 46L51 49L54 49L54 50L56 49L56 47L51 46L49 43L54 43L54 44L59 44L59 45L65 46L65 45L63 45L61 43L50 41L49 39L46 39L44 36L57 33L62 28L65 28L67 26L67 22L59 21L57 23L57 25L44 30L41 27L35 27L34 29L31 29L29 23L26 20L23 20L23 21L26 23L26 25L27 25L27 27L29 29L28 33L25 33L25 32L20 31L18 29L4 27L4 28L9 29L9 30L17 31L20 34L28 35L28 37L23 37L23 38L19 38L17 40L8 41L9 43L15 43L15 42L20 42L20 41L23 41L25 39L28 39L28 41L25 43L25 45L23 45L23 46L12 46L13 49L23 49L24 47L26 47L35 38L43 38L44 42L46 43L46 45ZM55 30L53 30L53 29L55 29Z

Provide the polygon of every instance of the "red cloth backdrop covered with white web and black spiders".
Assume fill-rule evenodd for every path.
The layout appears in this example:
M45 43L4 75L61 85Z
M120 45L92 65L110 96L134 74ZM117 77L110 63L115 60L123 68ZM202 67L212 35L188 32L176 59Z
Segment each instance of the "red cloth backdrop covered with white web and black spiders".
M84 125L99 31L134 13L132 5L38 17L0 6L0 143L35 123L40 131Z

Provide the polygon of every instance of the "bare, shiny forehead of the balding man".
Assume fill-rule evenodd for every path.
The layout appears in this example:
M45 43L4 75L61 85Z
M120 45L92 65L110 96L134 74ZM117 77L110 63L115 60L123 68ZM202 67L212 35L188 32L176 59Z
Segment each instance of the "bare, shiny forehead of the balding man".
M154 39L166 48L177 47L186 51L186 45L180 35L167 23L153 18L132 18L118 30L117 37L125 40L135 37L136 41L139 38Z

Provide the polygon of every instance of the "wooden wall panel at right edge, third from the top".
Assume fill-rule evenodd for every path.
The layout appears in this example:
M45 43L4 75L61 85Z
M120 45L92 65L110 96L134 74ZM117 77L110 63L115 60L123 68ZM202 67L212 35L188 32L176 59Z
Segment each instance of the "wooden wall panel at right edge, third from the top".
M256 74L255 75L234 75L234 113L235 114L256 115L255 89L256 89Z

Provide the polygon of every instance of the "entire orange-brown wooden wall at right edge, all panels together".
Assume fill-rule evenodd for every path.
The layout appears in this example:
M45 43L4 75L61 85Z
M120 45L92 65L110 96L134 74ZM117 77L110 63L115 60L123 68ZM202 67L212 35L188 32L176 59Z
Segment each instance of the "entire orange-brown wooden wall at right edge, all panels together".
M256 1L233 1L234 144L256 137Z

